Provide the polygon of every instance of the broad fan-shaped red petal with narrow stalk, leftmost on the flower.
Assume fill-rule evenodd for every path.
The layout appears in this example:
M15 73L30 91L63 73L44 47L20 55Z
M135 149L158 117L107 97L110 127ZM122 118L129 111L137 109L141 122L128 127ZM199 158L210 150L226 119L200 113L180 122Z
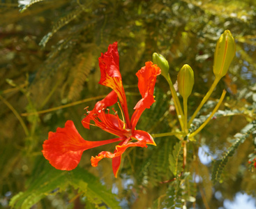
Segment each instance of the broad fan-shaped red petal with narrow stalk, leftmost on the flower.
M77 167L84 150L121 140L123 139L85 141L77 132L73 121L67 121L65 127L57 128L57 132L49 132L42 153L56 169L70 171Z

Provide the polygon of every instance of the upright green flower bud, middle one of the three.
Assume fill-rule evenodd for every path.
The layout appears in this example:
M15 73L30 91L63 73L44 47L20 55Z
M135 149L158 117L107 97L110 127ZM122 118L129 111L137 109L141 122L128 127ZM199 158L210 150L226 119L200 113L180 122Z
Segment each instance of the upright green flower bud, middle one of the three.
M194 86L194 72L190 65L183 65L178 74L178 88L183 100L188 98Z

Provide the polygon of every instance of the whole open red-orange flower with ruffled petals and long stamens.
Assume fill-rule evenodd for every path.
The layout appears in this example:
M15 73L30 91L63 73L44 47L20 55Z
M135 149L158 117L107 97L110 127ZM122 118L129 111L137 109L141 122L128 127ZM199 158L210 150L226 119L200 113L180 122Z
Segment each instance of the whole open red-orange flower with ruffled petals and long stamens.
M117 176L121 164L121 155L127 148L132 146L147 147L146 144L156 146L148 132L135 130L135 127L142 112L146 108L149 109L151 104L155 102L153 88L156 84L156 76L160 75L160 68L151 62L146 62L146 65L136 73L139 79L138 87L142 99L135 105L135 111L130 119L126 94L119 71L117 42L110 45L105 54L101 54L99 65L101 73L99 84L108 86L113 91L106 98L97 102L92 111L88 111L87 116L82 120L82 124L87 129L89 129L89 125L96 125L102 130L116 135L118 138L105 141L86 141L77 132L73 121L67 121L65 127L58 127L57 132L50 132L48 139L43 144L43 155L56 169L75 169L84 150L119 141L114 153L103 151L98 156L91 157L91 165L93 167L97 167L98 162L105 157L112 158L112 169L114 176ZM121 112L123 120L119 118L114 109L114 114L111 114L110 109L107 109L107 107L117 102L117 98L119 98L121 109L123 110ZM94 124L91 124L91 121Z

